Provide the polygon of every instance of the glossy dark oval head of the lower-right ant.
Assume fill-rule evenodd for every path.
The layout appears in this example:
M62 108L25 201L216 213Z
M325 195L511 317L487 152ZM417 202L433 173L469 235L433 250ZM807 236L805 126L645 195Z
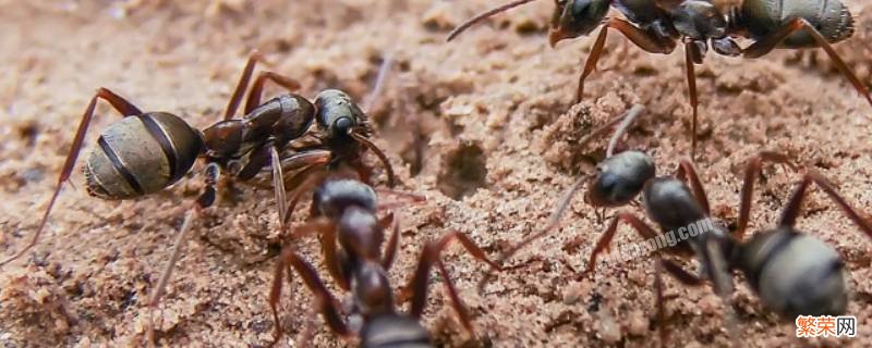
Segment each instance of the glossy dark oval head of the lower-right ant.
M588 200L596 207L623 206L654 177L654 161L639 151L623 151L603 160L588 190Z

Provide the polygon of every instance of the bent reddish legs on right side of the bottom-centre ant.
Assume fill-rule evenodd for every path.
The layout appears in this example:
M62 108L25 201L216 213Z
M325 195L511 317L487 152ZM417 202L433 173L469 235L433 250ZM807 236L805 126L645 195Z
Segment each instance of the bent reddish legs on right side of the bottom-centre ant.
M412 294L412 307L410 313L413 318L419 319L424 312L424 304L427 303L427 274L429 273L431 266L433 266L435 263L445 281L445 287L448 290L448 295L451 297L452 307L457 311L461 324L464 328L467 328L467 331L472 333L473 330L472 324L470 323L469 314L463 307L460 296L457 294L457 289L455 288L453 282L451 282L451 278L449 277L448 271L445 269L445 265L439 259L439 253L441 253L443 250L445 250L445 248L448 247L448 245L455 239L457 239L473 258L487 263L493 270L501 270L498 264L487 258L487 254L485 254L484 250L476 246L469 236L457 231L448 233L438 240L428 243L426 246L424 246L424 250L421 251L421 258L419 259L414 276L412 277L411 282L409 282L409 286L407 287L407 289L411 288L414 291Z

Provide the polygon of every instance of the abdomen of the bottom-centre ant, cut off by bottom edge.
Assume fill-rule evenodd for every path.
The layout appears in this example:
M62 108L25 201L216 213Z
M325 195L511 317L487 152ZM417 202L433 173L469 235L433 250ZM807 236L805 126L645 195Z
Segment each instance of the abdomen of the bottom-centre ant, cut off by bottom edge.
M397 313L380 314L366 321L361 330L363 348L429 348L429 332L417 320Z

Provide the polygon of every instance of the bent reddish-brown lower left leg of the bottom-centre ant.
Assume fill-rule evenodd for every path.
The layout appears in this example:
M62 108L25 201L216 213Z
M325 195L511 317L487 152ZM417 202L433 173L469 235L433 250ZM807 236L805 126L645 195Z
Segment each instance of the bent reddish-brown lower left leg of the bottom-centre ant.
M281 297L281 288L282 288L282 275L283 269L286 265L293 266L296 270L296 273L300 274L300 277L303 278L303 283L308 287L312 291L312 295L315 297L315 306L320 311L322 315L324 315L324 320L327 322L327 326L336 333L337 335L348 337L352 335L351 330L342 321L342 316L339 314L339 303L337 302L336 298L327 290L327 287L324 285L324 282L318 276L315 269L303 258L301 258L293 249L288 246L284 247L284 250L281 252L281 258L279 259L279 263L276 266L275 276L272 277L272 287L269 291L269 307L272 310L272 319L276 321L276 336L275 339L281 337L281 325L279 321L279 313L278 313L278 303ZM290 270L288 271L288 277L290 278L292 274L290 274Z

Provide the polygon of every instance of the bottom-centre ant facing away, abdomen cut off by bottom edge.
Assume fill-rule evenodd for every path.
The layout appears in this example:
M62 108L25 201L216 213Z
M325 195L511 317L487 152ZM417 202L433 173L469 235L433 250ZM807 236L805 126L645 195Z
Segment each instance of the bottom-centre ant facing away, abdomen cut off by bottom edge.
M286 269L289 277L293 271L300 274L315 296L315 306L327 326L337 335L356 335L361 347L432 347L429 333L419 321L426 304L427 274L435 264L460 322L467 331L472 332L469 314L439 254L452 240L458 240L475 259L494 270L499 268L467 235L451 232L424 246L414 275L402 291L402 295L411 293L411 310L402 314L396 310L393 289L388 281L388 271L397 257L399 223L395 221L392 212L380 219L376 215L378 210L390 204L378 204L376 191L360 181L335 177L319 184L312 204L317 217L294 228L292 238L296 240L312 234L320 236L327 271L339 288L351 293L352 312L362 316L363 325L355 332L342 320L338 300L327 289L317 271L288 244L281 251L269 293L269 306L276 322L276 341L282 334L278 304ZM391 228L391 234L383 254L382 244L385 229L388 228Z

